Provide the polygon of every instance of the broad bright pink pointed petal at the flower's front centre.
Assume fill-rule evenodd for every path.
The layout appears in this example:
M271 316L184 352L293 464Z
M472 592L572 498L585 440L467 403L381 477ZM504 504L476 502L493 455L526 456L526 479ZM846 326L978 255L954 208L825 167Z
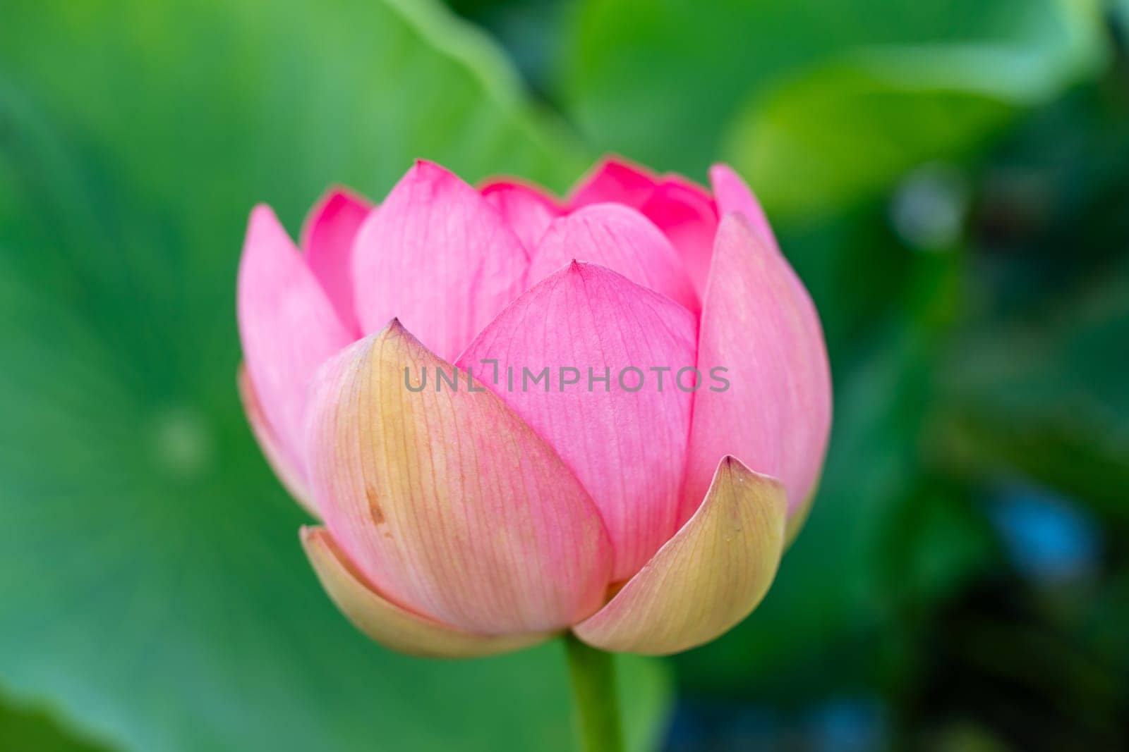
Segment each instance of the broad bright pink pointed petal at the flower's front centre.
M612 537L616 581L634 574L676 527L691 395L674 379L694 363L694 329L693 316L669 299L574 262L502 311L460 359L584 483ZM498 379L482 363L491 360ZM562 366L576 371L562 379ZM531 378L548 369L546 380L525 381L526 368ZM651 368L671 369L662 391ZM606 387L589 382L589 369L610 373ZM574 375L578 383L561 384ZM640 377L642 388L629 391ZM688 388L693 381L683 374Z

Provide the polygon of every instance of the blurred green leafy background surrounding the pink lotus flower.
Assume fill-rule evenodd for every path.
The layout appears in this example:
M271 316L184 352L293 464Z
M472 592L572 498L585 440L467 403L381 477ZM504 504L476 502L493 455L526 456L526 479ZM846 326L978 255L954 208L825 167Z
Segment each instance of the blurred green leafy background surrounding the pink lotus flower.
M559 645L332 608L235 391L247 212L415 157L753 185L823 318L761 608L634 750L1129 749L1129 2L5 0L0 749L567 750Z

